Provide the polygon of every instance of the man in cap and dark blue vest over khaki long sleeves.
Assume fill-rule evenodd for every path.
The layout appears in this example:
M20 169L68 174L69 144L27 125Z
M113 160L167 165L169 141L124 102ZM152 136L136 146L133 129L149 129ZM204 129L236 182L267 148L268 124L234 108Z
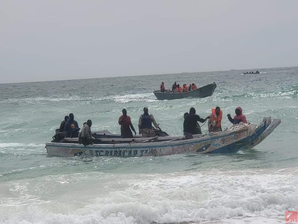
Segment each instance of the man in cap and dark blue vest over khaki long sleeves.
M144 107L143 111L144 113L139 118L139 134L142 134L143 138L155 137L152 123L156 128L159 128L159 124L156 123L153 115L148 113L147 107Z

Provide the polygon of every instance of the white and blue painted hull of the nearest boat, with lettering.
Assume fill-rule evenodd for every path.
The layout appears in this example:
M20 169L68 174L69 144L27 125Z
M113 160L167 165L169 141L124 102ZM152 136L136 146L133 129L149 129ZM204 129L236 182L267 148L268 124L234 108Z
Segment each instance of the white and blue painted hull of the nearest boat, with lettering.
M223 132L209 133L202 137L187 140L150 143L94 144L46 143L49 156L59 157L144 157L173 154L229 154L245 148L252 148L263 141L279 124L280 119L263 119L255 124L232 125Z

